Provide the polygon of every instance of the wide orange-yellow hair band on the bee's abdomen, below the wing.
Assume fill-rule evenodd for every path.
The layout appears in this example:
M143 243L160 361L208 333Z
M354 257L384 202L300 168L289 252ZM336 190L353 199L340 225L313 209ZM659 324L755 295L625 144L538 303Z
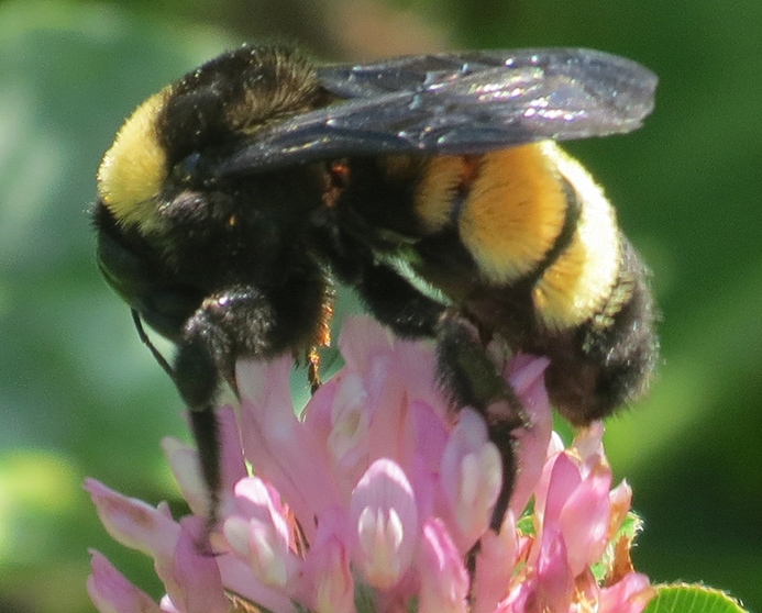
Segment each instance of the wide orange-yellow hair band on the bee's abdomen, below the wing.
M553 247L566 216L566 193L545 144L485 154L463 205L460 232L495 285L531 274Z

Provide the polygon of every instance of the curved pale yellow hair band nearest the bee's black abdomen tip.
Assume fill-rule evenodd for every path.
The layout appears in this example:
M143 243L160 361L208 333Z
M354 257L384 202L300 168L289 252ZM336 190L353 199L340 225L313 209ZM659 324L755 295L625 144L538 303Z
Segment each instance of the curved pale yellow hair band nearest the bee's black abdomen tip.
M537 282L532 300L545 328L565 330L605 308L619 275L621 244L614 208L600 187L576 160L554 149L582 211L571 244Z

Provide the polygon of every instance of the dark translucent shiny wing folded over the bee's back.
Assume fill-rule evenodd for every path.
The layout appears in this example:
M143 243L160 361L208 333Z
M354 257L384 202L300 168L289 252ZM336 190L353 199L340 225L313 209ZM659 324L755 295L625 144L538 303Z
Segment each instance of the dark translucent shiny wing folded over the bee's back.
M625 133L651 112L656 87L632 60L575 48L409 56L318 73L340 101L257 132L220 174Z

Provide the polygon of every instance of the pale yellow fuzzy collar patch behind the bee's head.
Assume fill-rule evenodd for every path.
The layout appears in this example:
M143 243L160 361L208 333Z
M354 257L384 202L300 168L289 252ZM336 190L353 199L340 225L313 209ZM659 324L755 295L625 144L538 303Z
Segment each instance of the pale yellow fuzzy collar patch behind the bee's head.
M151 224L155 199L167 177L156 118L167 90L143 102L119 130L98 169L98 196L123 224Z

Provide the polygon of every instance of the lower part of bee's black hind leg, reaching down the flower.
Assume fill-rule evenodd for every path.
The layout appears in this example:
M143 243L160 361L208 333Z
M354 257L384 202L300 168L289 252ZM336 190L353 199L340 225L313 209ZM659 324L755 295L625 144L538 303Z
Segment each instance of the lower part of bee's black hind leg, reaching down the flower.
M527 425L521 401L487 355L475 326L448 310L437 326L439 378L456 408L473 406L485 419L489 439L503 459L503 487L490 527L499 532L516 481L513 431Z

